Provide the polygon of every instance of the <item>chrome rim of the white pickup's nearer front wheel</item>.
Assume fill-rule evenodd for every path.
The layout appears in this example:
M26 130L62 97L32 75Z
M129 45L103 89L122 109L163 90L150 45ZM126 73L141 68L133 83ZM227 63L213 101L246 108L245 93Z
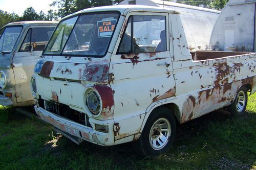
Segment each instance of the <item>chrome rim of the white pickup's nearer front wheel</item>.
M168 143L171 128L169 120L166 118L159 118L153 124L150 130L150 145L154 150L161 150Z

